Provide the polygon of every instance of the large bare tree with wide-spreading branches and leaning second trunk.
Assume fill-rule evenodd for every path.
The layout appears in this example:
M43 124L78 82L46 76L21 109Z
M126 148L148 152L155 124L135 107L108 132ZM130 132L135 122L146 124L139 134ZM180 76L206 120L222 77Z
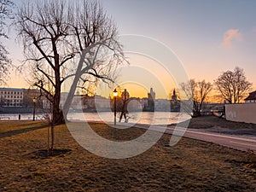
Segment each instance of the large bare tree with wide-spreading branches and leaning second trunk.
M33 67L33 84L52 103L55 124L64 122L78 87L99 79L113 82L114 70L124 60L116 26L97 1L27 1L15 24L26 62ZM67 81L71 86L61 110L61 85Z

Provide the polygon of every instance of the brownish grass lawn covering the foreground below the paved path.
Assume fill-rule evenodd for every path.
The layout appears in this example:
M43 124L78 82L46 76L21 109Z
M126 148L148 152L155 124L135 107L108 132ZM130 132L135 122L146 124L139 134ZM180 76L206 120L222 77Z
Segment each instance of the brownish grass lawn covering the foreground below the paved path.
M102 137L113 129L91 124ZM170 135L143 154L111 160L91 154L66 125L55 127L55 148L66 153L45 157L47 125L0 121L0 191L255 191L255 154L183 138L167 147ZM118 130L119 141L144 130ZM61 151L61 150L60 150Z

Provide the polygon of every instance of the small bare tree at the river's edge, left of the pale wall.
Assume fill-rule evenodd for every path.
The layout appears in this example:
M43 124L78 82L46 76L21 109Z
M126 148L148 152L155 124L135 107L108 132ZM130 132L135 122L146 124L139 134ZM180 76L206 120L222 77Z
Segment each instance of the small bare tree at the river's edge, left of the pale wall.
M206 101L207 96L212 90L212 84L202 81L195 81L190 79L187 83L181 84L181 90L185 93L186 97L193 102L192 117L201 116L201 107L203 102Z

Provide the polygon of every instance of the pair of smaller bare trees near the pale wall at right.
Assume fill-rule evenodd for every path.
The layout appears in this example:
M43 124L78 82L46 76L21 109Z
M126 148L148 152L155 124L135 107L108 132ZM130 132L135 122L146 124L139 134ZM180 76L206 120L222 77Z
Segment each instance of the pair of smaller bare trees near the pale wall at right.
M181 90L191 104L183 102L183 109L189 113L192 112L192 117L201 116L202 104L207 101L213 90L213 85L217 91L215 97L220 97L225 103L230 104L241 102L253 87L253 84L247 81L245 73L240 67L236 67L234 71L228 70L221 73L218 79L214 80L214 84L205 80L190 79L189 82L180 84Z

